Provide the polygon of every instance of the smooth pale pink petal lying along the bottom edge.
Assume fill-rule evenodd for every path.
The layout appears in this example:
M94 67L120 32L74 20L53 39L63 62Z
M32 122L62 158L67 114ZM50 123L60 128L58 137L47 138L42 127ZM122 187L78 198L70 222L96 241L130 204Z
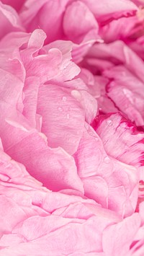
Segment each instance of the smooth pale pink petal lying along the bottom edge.
M100 218L91 217L87 221L81 221L79 224L72 222L68 225L61 226L59 229L51 232L50 234L44 234L42 237L33 240L32 242L21 243L17 246L13 246L10 250L13 253L25 253L40 255L42 248L42 255L58 255L68 254L73 252L102 252L102 231L104 227L111 222L107 219L103 223L99 222ZM99 231L96 227L99 226ZM43 247L42 244L45 244ZM2 251L3 253L5 250ZM8 250L9 252L9 250Z

